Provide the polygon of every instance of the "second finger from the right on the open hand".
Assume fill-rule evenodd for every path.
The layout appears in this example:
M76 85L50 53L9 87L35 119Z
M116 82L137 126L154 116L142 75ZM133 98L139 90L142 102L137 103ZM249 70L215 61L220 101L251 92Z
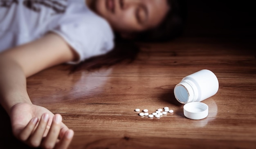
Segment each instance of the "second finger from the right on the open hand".
M58 139L58 135L61 130L61 121L62 121L62 117L60 114L56 114L53 117L51 128L50 128L45 140L42 143L42 146L44 148L52 149L55 146L57 139Z

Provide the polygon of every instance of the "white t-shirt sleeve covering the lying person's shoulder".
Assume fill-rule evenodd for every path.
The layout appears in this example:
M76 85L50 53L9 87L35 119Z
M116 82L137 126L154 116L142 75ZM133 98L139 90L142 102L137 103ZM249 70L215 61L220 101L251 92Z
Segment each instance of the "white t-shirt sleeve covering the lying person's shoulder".
M108 22L86 6L75 6L70 5L59 26L52 31L63 37L78 53L79 61L112 50L114 34Z

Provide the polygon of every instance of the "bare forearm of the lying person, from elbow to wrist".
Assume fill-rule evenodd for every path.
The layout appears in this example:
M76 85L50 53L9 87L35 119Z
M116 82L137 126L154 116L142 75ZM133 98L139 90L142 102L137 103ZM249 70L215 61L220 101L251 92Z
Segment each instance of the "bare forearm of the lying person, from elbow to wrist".
M17 103L31 103L21 66L13 59L0 56L0 70L0 103L7 113Z

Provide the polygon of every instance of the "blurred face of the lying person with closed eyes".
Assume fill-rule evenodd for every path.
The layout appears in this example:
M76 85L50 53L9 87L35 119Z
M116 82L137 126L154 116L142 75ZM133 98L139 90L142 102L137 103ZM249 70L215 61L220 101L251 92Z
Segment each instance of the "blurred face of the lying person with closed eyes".
M135 33L157 26L169 10L167 0L92 0L92 10L114 31Z

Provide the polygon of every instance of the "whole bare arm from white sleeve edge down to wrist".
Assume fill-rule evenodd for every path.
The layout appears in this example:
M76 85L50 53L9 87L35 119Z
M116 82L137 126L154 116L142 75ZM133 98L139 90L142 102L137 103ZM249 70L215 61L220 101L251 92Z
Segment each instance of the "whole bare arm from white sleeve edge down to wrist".
M0 53L0 103L10 114L17 103L31 103L26 77L45 68L75 60L76 53L54 33Z

